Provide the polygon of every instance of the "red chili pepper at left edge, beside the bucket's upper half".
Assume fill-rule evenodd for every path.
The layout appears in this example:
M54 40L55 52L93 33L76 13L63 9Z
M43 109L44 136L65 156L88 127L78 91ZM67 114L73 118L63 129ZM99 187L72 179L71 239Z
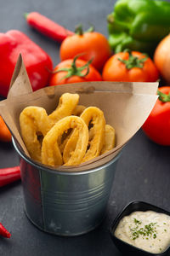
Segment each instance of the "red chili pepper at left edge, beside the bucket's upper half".
M20 166L0 169L0 187L20 179Z

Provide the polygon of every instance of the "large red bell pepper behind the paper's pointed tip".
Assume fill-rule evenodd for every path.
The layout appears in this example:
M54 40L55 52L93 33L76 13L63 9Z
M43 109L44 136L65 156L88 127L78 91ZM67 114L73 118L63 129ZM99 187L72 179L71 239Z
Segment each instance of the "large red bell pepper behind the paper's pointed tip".
M19 55L22 55L32 89L48 84L53 63L50 56L23 32L11 30L0 33L0 95L7 96L10 80Z

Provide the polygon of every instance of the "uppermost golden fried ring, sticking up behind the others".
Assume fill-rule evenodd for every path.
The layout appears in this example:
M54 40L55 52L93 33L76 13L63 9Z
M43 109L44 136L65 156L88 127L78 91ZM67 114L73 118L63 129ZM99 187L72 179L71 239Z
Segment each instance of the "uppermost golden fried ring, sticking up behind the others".
M59 105L54 112L48 115L48 118L55 124L59 119L65 118L72 114L73 110L77 107L79 101L78 94L64 93L59 98Z

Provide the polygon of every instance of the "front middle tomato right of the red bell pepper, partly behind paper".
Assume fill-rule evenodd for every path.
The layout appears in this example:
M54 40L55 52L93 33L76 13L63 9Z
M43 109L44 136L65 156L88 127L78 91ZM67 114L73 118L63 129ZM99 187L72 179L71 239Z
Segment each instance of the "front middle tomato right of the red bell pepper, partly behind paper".
M97 71L92 65L88 65L89 72L88 74L88 67L87 67L87 61L82 60L75 60L74 59L66 60L60 62L55 68L54 72L49 85L56 85L56 84L71 84L71 83L80 83L80 82L87 82L87 81L101 81L101 75L99 74L99 71ZM80 67L84 67L83 70L80 70ZM61 68L69 68L70 71L59 71ZM57 72L58 71L58 72ZM71 76L69 78L65 78L65 75L68 75L68 73L71 73ZM85 75L85 76L82 76Z

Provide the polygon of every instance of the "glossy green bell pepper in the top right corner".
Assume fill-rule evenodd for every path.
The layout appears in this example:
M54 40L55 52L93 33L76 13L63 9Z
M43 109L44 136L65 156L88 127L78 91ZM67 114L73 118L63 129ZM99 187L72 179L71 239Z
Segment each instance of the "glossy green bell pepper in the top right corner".
M159 0L118 0L108 15L109 44L149 55L170 32L170 3Z

